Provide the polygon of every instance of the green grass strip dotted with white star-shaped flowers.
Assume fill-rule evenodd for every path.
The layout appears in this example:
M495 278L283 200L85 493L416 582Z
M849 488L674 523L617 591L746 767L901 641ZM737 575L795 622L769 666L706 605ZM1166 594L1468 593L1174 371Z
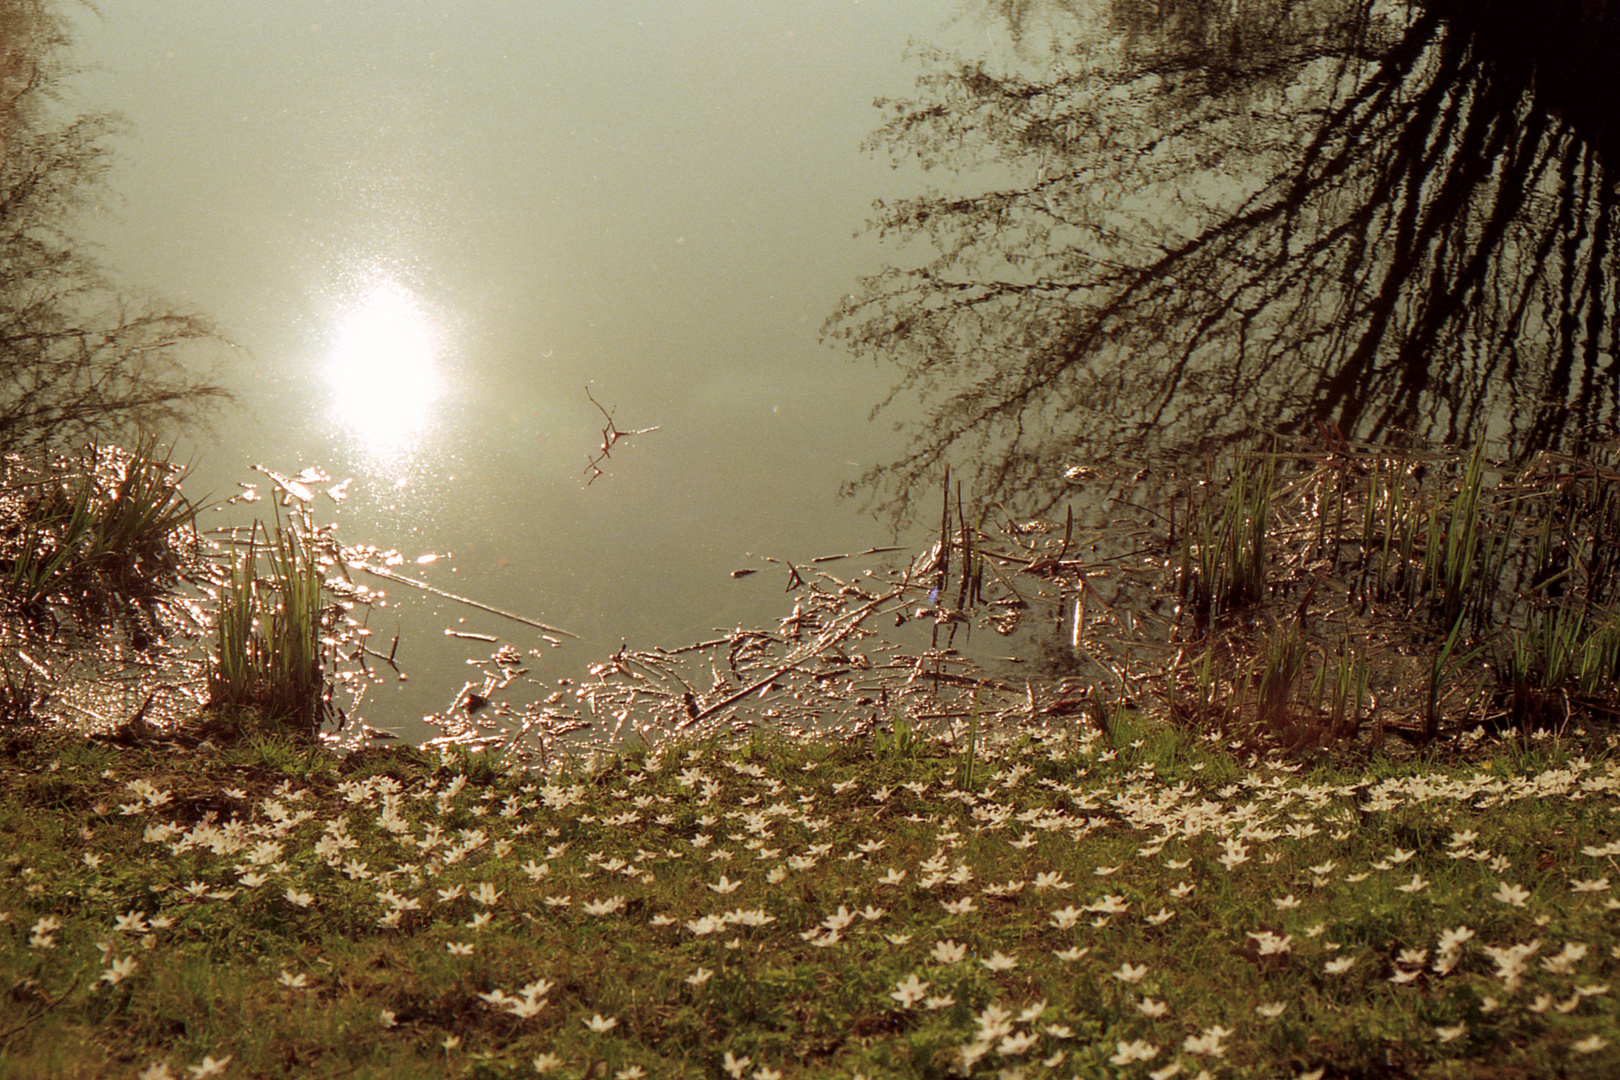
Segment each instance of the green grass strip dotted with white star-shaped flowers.
M13 742L0 1077L1620 1070L1607 746L1110 730L549 776Z

